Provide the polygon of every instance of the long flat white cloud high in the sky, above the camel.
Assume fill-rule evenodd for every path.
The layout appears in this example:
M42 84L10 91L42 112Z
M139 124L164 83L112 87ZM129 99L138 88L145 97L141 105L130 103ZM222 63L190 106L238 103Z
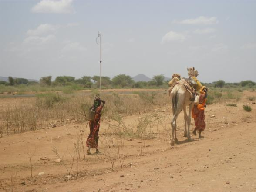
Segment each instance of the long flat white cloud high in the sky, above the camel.
M200 16L195 19L185 19L182 21L175 21L178 24L188 24L188 25L209 25L209 24L217 24L219 21L216 17L204 17Z

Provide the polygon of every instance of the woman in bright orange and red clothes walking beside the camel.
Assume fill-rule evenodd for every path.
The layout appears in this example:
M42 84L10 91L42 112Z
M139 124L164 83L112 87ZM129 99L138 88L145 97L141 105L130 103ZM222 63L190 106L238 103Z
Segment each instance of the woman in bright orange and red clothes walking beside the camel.
M196 135L196 131L199 131L199 138L202 131L205 130L205 107L206 107L207 88L202 86L200 88L200 94L196 96L194 101L194 107L192 108L192 118L195 120L195 129L193 134Z

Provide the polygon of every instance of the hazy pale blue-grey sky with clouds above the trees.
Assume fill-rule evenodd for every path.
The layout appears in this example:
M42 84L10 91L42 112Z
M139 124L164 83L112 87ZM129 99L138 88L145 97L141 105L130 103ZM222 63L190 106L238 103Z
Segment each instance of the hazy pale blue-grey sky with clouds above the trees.
M0 76L256 81L255 0L0 0Z

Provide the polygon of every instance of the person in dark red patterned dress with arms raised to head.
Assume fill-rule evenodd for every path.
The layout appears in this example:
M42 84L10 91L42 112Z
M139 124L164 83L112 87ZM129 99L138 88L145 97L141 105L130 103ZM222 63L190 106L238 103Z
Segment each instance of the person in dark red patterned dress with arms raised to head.
M102 103L102 104L101 104ZM105 101L101 100L99 97L95 97L94 103L90 108L90 113L95 113L89 120L90 134L86 140L87 155L91 155L90 149L96 148L96 153L99 153L98 150L98 140L99 140L99 129L101 124L101 111L104 107Z

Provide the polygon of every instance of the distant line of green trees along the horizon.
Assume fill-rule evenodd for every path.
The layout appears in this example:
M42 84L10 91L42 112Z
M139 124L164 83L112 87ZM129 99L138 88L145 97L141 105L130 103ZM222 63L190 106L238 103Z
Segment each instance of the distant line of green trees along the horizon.
M84 88L99 88L100 87L100 76L83 76L79 79L75 79L75 77L71 76L58 76L55 80L52 80L52 76L41 77L39 83L35 81L28 81L25 78L13 78L8 77L9 82L0 81L0 84L3 85L30 85L30 84L39 84L40 86L70 86L70 85L79 85ZM125 87L132 87L132 88L145 88L145 87L161 87L162 85L166 86L168 81L165 81L164 75L155 75L151 81L138 81L135 82L131 76L126 74L118 74L112 79L110 77L103 76L101 77L101 86L103 88L125 88ZM223 80L215 81L213 83L202 83L205 84L207 87L219 87L222 88L226 87L253 87L256 85L253 81L241 81L240 83L226 83Z

